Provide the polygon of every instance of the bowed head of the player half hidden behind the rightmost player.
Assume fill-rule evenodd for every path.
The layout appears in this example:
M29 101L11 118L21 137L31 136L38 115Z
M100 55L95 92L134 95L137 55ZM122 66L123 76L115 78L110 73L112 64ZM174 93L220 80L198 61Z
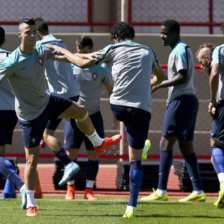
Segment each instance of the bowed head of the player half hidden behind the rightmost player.
M209 74L211 71L212 52L214 48L215 44L213 43L203 43L195 53L198 62L201 64L201 68L206 70Z

